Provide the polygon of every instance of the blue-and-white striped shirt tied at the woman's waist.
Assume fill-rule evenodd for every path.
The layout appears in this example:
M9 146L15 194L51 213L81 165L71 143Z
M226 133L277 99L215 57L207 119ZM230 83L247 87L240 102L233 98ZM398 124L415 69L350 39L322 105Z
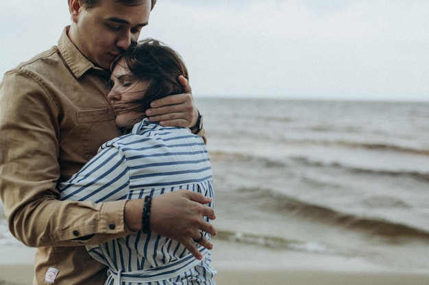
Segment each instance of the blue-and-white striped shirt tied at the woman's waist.
M162 127L146 119L135 124L130 134L103 144L93 159L58 188L61 200L141 199L178 189L214 198L203 139L187 128ZM87 249L108 265L109 285L215 284L216 271L210 267L207 249L199 247L204 258L197 260L177 241L154 232L136 232Z

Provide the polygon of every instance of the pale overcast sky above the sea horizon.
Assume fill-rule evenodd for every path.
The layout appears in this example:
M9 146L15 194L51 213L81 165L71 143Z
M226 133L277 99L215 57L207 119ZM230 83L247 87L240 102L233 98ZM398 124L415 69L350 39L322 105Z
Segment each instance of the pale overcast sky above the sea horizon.
M66 0L2 2L1 74L70 23ZM429 100L427 0L158 0L146 37L184 57L194 96Z

